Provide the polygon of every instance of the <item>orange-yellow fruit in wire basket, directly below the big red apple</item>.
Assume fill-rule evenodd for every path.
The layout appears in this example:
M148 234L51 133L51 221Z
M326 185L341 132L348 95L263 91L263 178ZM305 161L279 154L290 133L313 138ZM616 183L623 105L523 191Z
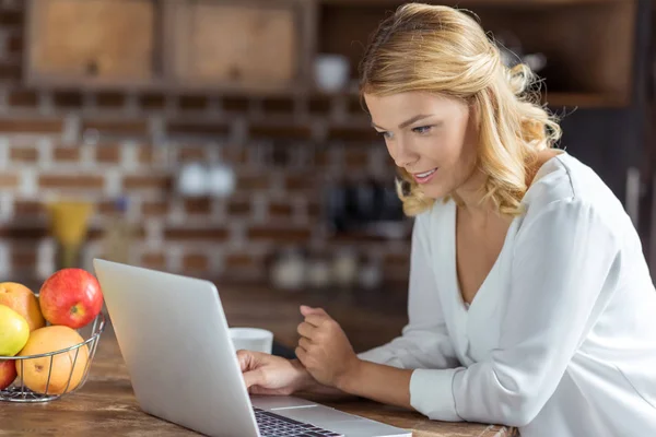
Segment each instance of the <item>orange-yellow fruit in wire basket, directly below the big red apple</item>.
M84 339L74 329L65 326L49 326L32 331L27 344L19 355L37 355L60 351L83 341ZM77 358L75 353L78 354ZM50 361L52 362L51 367ZM30 390L46 393L47 388L47 394L61 394L78 387L84 376L87 361L89 349L86 345L82 345L69 352L42 358L22 359L22 368L21 361L17 361L16 371L19 378L23 377L23 382ZM48 374L50 374L49 382Z

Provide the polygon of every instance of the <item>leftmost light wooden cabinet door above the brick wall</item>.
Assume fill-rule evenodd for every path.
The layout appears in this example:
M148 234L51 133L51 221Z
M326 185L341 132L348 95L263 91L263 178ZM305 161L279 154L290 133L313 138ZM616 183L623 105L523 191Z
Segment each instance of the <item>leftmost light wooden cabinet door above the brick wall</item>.
M153 0L33 0L31 82L147 82L153 76Z

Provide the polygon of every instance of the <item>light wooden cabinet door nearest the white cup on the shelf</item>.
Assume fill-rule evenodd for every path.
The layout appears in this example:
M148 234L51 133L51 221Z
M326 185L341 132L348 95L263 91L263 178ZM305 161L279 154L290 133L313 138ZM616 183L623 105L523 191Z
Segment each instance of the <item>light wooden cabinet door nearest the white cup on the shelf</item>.
M167 22L169 69L185 85L290 88L304 67L300 1L180 1ZM308 35L305 35L308 37Z

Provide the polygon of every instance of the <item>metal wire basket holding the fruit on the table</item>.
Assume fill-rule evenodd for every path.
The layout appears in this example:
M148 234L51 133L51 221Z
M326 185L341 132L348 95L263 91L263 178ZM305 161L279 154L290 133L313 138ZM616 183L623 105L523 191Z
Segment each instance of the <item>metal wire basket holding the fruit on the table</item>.
M82 330L86 329L82 328ZM13 362L17 377L13 383L0 390L0 401L47 402L82 388L89 377L89 369L104 330L105 316L99 312L83 342L44 354L1 357L0 364L5 361ZM83 339L85 338L84 334L79 333ZM33 378L36 382L26 382L25 371L32 373L33 376L38 374L39 376Z

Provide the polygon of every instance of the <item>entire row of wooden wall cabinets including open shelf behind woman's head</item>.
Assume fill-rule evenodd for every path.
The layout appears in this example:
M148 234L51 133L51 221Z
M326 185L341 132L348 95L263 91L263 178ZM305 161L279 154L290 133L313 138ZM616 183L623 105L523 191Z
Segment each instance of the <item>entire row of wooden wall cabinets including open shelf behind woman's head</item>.
M337 55L351 81L371 33L405 0L28 0L31 85L307 95ZM631 105L640 0L438 0L546 66L553 107ZM332 92L328 93L331 94ZM323 93L325 94L325 93Z

